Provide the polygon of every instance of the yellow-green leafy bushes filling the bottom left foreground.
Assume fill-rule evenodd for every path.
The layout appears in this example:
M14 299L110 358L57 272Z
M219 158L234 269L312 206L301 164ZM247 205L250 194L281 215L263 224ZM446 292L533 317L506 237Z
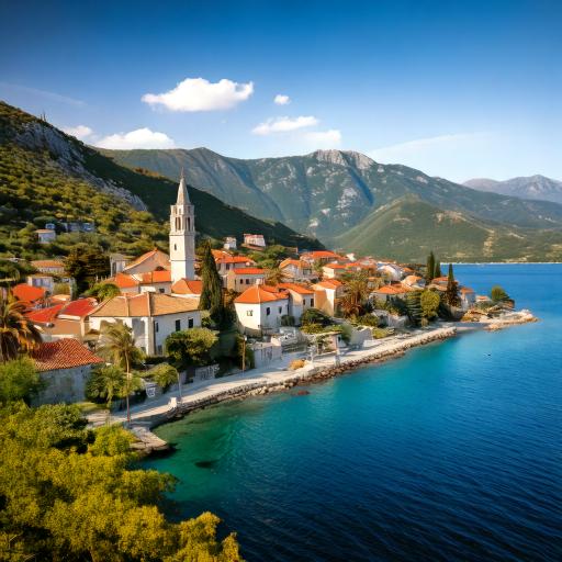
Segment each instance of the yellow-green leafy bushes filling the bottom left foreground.
M132 470L121 428L85 428L76 406L0 412L0 559L236 562L234 535L205 513L171 524L157 505L175 480Z

